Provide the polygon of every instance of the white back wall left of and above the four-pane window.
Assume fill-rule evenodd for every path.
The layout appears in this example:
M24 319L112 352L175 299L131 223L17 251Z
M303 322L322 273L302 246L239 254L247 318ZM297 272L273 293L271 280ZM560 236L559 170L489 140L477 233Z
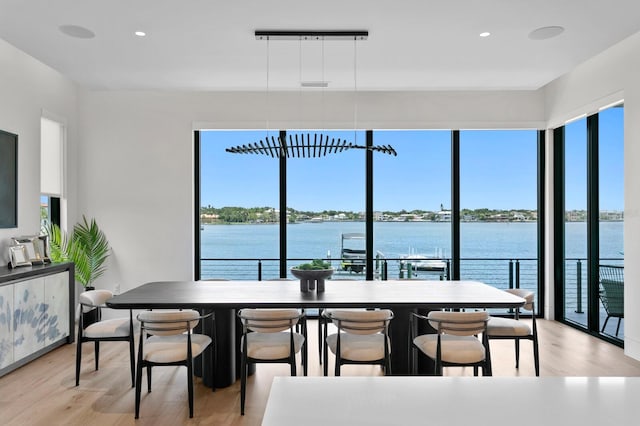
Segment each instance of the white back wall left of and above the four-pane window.
M358 93L362 128L539 128L540 92ZM79 96L78 214L111 242L99 286L193 278L193 129L346 128L353 95L86 91ZM324 112L319 106L324 105Z

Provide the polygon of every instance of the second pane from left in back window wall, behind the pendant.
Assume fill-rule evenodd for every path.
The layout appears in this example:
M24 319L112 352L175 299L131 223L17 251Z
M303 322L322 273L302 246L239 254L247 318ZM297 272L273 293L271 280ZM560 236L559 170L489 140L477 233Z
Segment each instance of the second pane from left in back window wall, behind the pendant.
M287 134L290 144L296 143L295 137L304 135L305 140L310 138L311 145L318 145L306 154L296 152L287 158L287 258L292 259L288 266L326 259L336 270L336 278L364 279L365 151L336 152L313 143L322 136L325 141L328 138L329 145L346 141L364 146L364 132Z

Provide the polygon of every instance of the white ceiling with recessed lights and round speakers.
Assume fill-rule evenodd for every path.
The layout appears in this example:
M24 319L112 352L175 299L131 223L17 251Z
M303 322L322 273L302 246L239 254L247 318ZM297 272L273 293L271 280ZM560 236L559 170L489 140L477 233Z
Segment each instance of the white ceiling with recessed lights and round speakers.
M565 31L528 38L552 25ZM255 30L369 38L267 44ZM0 38L97 89L537 89L638 31L638 0L0 0Z

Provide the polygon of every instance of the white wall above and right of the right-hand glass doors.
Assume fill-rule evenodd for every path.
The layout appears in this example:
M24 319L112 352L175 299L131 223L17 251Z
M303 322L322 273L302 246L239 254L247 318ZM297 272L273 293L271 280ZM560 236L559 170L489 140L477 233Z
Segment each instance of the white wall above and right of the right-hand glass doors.
M585 62L545 89L549 127L624 98L625 353L640 359L640 34Z

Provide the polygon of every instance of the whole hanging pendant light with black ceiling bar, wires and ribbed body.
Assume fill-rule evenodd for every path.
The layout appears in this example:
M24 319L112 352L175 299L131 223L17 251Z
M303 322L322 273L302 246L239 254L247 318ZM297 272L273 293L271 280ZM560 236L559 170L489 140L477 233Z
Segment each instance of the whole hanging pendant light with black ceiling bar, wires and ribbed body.
M297 31L297 30L256 30L256 40L265 40L268 43L271 40L351 40L354 42L366 40L369 36L368 31ZM267 53L268 56L268 53ZM355 59L354 59L355 62ZM324 66L324 58L323 58ZM267 59L267 96L269 91L269 70ZM355 64L354 64L354 81L355 81ZM305 87L326 87L326 82L315 82L317 84L308 84ZM302 83L301 83L302 84ZM354 88L356 90L356 88ZM268 108L268 106L267 106ZM355 119L355 117L354 117ZM268 120L267 120L268 121ZM354 123L355 124L355 123ZM268 123L267 123L267 127ZM267 129L268 130L268 129ZM332 138L322 133L288 133L288 140L279 136L267 136L264 140L251 142L246 145L238 145L227 148L226 151L233 154L262 154L273 158L281 157L298 157L298 158L315 158L324 157L328 154L343 152L349 149L370 149L372 151L382 152L396 156L396 150L391 145L380 145L366 147L348 142L341 138Z

